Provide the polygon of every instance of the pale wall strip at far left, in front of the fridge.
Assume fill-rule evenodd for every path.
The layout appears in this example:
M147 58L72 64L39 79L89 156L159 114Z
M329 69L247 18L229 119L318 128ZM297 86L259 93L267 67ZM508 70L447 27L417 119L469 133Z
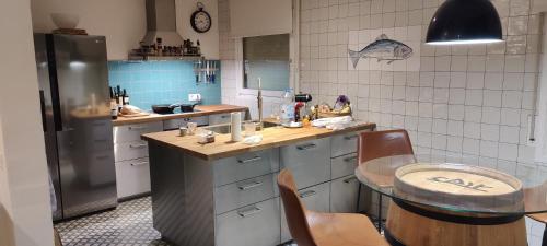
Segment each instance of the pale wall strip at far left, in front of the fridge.
M10 36L0 46L0 245L51 246L30 0L2 0L0 23Z

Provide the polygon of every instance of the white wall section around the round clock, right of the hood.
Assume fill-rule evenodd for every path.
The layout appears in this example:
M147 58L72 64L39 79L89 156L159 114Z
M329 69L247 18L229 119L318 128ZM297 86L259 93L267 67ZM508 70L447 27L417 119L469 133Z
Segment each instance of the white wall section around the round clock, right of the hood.
M197 10L197 2L202 2L203 10L211 15L211 30L207 33L197 33L191 28L190 17ZM207 59L218 60L219 56L219 2L217 0L176 0L176 28L183 38L193 42L199 39L201 52Z

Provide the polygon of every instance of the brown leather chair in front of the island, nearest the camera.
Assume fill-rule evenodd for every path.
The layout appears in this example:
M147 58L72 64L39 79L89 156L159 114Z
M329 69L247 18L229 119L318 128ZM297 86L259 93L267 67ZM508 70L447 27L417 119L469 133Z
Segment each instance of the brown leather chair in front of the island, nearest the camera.
M279 174L278 186L289 231L299 246L388 246L365 215L306 210L288 169Z

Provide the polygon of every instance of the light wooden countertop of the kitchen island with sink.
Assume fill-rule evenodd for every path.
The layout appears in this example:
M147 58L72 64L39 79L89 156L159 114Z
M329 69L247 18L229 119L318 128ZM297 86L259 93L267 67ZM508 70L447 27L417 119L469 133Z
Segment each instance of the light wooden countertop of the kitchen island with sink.
M315 127L295 129L266 128L263 131L257 131L257 133L263 136L263 141L253 145L245 144L243 142L232 142L230 134L217 134L213 143L200 144L198 143L198 138L196 136L178 137L177 130L142 134L141 138L147 141L164 144L166 147L177 148L188 154L210 161L251 151L289 145L291 143L298 143L306 140L374 129L376 125L371 122L356 122L352 127L337 131Z

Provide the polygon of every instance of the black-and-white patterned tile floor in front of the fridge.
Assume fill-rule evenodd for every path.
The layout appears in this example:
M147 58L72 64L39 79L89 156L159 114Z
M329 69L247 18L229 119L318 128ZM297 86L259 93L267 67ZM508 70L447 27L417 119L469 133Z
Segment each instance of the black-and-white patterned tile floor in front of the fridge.
M65 246L170 246L152 227L150 197L56 225Z

